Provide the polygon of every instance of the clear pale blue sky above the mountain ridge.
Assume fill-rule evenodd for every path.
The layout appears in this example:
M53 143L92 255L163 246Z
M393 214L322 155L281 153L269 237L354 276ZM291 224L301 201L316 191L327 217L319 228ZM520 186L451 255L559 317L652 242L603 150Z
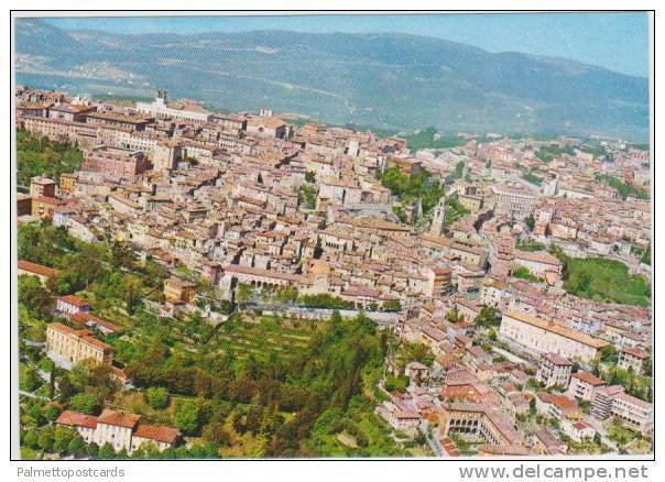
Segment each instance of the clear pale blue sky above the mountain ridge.
M622 74L648 76L646 13L475 13L393 15L246 15L45 19L66 30L203 33L291 30L310 33L400 32L488 52L570 58Z

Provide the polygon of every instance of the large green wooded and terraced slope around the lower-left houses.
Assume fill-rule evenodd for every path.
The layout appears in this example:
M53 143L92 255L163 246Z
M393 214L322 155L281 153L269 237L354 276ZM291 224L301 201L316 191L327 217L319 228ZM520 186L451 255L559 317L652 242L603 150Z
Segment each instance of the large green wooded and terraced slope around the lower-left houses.
M143 300L161 300L167 274L150 261L139 263L127 245L84 243L48 223L21 227L19 240L21 259L59 271L45 285L35 276L19 281L21 386L34 392L21 401L26 457L128 457L112 447L81 446L76 434L51 425L63 409L95 415L103 407L175 426L188 442L132 458L403 453L373 412L392 335L369 318L334 314L306 321L243 313L212 326L197 315L159 317ZM69 324L53 311L54 297L65 293L121 328L95 336L113 347L133 388L121 391L106 365L53 369L35 344L48 322Z

